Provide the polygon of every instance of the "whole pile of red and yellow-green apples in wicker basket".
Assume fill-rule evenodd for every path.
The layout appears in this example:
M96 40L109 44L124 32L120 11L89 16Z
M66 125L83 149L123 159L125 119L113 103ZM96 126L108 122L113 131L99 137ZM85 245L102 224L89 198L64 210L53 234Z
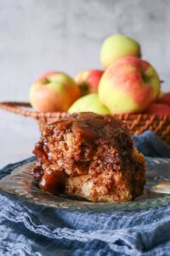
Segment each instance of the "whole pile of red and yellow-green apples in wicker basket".
M60 71L32 84L31 105L38 112L170 114L170 92L161 91L156 69L141 57L138 42L125 35L106 38L102 70L85 70L72 79Z

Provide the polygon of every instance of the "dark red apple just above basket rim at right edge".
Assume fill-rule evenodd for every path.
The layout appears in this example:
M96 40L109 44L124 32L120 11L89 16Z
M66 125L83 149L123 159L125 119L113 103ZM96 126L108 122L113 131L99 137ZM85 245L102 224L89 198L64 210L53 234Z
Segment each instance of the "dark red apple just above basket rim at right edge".
M170 114L170 106L162 103L153 103L145 110L145 113Z

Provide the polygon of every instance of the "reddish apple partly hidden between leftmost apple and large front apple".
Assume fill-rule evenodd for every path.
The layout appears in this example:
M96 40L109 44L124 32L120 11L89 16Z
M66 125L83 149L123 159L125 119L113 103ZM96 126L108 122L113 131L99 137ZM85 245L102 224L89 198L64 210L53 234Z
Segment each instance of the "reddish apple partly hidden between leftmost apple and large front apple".
M88 93L98 92L99 80L103 73L103 70L92 69L84 70L77 74L75 81L82 92L82 96Z

